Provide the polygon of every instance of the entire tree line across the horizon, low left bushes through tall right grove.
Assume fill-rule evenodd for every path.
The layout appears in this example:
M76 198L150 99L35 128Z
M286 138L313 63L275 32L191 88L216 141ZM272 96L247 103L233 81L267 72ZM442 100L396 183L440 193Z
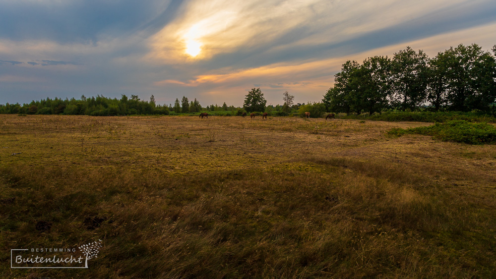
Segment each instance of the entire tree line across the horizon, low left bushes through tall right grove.
M335 75L334 86L324 94L321 102L294 104L294 96L283 94L284 104L266 106L260 88L252 88L245 96L243 108L217 104L203 108L194 99L183 96L172 104L156 104L137 95L111 99L100 95L81 99L50 99L30 104L0 104L0 113L22 114L84 114L94 116L132 114L177 114L196 112L269 112L285 116L310 112L320 117L324 112L347 114L399 111L481 111L496 114L496 46L493 52L483 51L477 44L459 45L429 58L422 50L410 47L395 53L392 58L373 56L362 64L348 60Z

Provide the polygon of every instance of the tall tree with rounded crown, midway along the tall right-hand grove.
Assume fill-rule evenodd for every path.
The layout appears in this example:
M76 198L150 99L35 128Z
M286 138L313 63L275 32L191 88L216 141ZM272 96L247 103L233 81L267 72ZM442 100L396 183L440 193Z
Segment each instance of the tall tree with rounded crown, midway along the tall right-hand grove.
M391 89L394 107L415 110L424 103L427 94L427 63L429 57L410 47L395 53L391 61Z

